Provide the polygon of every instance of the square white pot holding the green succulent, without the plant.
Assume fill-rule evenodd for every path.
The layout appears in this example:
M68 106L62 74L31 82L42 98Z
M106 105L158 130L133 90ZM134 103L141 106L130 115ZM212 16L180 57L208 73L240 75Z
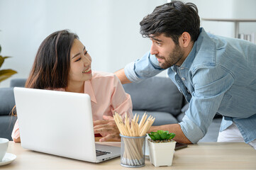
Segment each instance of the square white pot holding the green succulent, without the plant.
M150 162L154 166L171 166L176 142L153 143L148 140Z

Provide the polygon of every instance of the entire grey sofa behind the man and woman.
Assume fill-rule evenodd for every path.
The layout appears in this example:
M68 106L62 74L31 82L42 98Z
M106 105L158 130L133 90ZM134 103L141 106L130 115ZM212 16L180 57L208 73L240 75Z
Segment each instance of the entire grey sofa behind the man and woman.
M12 79L9 88L0 88L0 137L11 140L16 121L16 117L10 115L15 105L13 87L24 86L25 83L26 79ZM137 113L142 118L147 111L148 115L156 118L153 125L179 123L187 111L187 101L169 78L152 77L138 84L124 84L123 88L132 98L133 115ZM216 142L220 125L221 117L216 115L200 142Z

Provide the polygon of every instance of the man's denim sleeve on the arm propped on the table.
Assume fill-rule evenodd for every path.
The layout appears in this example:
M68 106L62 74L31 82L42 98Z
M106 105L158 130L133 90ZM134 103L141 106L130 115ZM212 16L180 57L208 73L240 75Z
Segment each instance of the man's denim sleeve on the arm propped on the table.
M192 74L194 91L189 109L179 125L184 135L192 143L196 143L206 135L208 126L234 79L232 74L220 67L202 67Z

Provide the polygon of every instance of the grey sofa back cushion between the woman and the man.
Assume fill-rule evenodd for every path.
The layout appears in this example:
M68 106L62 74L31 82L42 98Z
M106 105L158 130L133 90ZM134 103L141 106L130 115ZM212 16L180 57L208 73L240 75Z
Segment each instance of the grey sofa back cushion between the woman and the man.
M178 115L182 109L183 95L167 77L152 77L140 83L123 84L130 94L134 110L160 111Z

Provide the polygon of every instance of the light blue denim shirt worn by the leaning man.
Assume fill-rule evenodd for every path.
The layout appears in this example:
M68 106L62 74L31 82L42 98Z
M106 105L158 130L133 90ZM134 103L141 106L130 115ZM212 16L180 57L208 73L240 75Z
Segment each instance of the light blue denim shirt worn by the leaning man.
M138 82L162 72L155 55L147 52L125 67L130 81ZM168 68L168 76L189 102L179 125L184 135L198 142L216 113L223 115L221 129L233 122L245 142L256 138L256 45L223 38L201 28L199 38L180 67Z

